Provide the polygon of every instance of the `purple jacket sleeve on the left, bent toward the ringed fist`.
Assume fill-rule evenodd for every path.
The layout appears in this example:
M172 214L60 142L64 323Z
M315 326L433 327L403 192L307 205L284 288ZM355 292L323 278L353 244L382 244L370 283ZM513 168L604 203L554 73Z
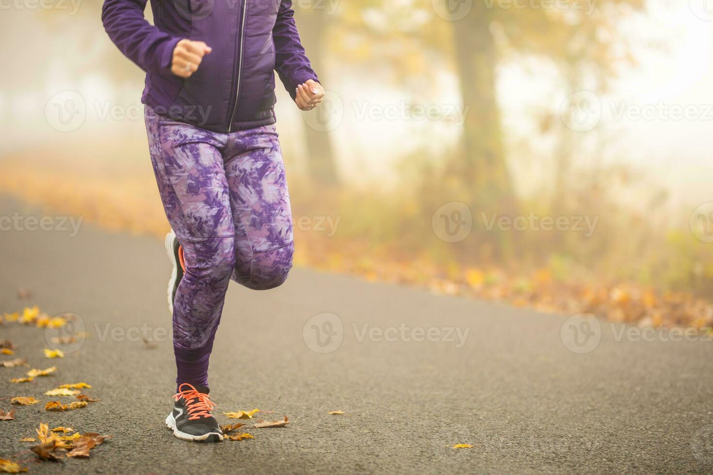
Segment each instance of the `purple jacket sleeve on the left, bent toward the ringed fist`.
M144 71L170 74L175 38L143 16L148 0L105 0L101 21L111 41Z

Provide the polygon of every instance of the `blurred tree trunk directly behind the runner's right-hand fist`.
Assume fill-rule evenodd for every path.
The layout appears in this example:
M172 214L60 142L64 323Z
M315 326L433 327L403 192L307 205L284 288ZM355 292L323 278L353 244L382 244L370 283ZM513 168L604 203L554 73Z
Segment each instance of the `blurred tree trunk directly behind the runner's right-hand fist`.
M319 80L328 87L324 67L324 35L327 32L327 13L324 9L295 9L298 17L299 35L312 69L319 75ZM328 131L320 132L312 127L304 127L307 140L307 172L314 182L334 185L339 182L334 148Z

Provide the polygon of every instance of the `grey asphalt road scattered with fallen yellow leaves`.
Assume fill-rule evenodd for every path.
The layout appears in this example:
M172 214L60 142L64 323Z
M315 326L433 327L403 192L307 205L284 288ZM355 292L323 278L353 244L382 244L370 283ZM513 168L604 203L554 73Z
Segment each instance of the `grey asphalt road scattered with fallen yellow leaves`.
M39 216L0 201L0 216L14 212ZM30 473L713 470L712 342L635 341L609 323L597 333L575 322L593 338L578 347L566 338L572 327L560 335L568 315L304 269L273 291L231 284L210 370L221 423L222 412L260 408L274 412L265 419L287 415L289 426L248 430L255 439L243 442L180 441L163 425L175 377L163 243L87 224L71 234L0 231L0 311L73 312L89 333L76 351L47 360L44 330L0 327L31 367L58 367L19 385L9 378L28 368L0 367L0 397L42 401L0 422L0 457L19 454ZM19 288L33 296L21 300ZM157 348L145 348L142 333ZM44 391L79 381L101 402L43 409L58 399ZM335 410L346 414L328 414ZM113 439L91 459L36 463L18 439L41 421ZM473 448L452 448L461 443Z

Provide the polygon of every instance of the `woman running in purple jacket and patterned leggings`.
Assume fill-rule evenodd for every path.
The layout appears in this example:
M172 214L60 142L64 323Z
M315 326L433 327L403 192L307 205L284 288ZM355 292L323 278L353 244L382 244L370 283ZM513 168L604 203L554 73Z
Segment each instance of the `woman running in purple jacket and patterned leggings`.
M275 130L275 74L301 110L322 101L291 0L106 0L102 21L146 72L142 102L172 231L168 307L178 377L166 424L220 442L208 359L230 280L275 288L292 267L292 215Z

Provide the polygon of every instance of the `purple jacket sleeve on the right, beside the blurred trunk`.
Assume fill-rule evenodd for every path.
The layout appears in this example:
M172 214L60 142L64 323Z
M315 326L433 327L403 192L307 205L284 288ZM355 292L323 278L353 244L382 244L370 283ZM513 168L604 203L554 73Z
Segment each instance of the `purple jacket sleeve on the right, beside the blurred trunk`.
M272 40L275 41L275 71L282 80L284 88L294 100L297 86L313 79L319 82L312 71L309 59L299 42L297 25L294 24L292 0L282 0L277 11L275 28L272 28Z

